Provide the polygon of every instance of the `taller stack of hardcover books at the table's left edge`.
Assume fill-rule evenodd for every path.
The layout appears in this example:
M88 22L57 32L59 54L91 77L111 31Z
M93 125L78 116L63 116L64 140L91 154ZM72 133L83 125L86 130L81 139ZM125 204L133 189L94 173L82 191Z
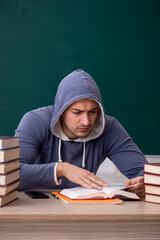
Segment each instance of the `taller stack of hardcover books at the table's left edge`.
M18 198L19 156L19 138L0 136L0 207Z

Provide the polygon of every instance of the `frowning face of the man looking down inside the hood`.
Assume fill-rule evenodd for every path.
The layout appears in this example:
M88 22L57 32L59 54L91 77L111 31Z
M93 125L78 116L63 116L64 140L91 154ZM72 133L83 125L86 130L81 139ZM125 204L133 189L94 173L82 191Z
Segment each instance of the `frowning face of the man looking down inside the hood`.
M98 109L98 103L92 99L74 102L61 116L63 132L70 139L87 137L93 129Z

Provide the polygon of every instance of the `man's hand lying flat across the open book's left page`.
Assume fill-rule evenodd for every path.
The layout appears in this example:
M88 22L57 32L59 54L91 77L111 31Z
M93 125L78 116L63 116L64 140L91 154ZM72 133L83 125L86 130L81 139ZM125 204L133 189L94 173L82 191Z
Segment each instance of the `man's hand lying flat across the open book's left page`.
M102 187L108 187L108 184L95 176L94 173L66 162L59 163L57 166L57 178L62 176L88 189L102 190Z

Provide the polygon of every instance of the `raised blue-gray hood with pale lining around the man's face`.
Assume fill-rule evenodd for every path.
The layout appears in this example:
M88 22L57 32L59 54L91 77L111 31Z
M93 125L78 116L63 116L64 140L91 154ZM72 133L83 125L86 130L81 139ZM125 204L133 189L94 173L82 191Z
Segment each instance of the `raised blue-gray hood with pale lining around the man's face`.
M50 128L53 134L60 140L71 141L62 131L60 124L61 114L72 103L85 98L95 100L100 106L100 112L91 133L86 138L78 138L74 141L87 142L91 139L99 137L102 134L105 125L105 118L99 88L88 73L79 69L70 73L61 81L55 96Z

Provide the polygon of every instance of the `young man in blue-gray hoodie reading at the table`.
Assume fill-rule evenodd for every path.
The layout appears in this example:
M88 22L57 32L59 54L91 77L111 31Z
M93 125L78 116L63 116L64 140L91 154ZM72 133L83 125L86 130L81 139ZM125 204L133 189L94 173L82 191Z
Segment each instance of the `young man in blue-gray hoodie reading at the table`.
M28 112L15 136L20 137L22 179L19 189L108 186L95 174L108 157L128 178L125 186L144 194L146 159L125 129L105 115L92 77L76 70L59 84L52 106Z

